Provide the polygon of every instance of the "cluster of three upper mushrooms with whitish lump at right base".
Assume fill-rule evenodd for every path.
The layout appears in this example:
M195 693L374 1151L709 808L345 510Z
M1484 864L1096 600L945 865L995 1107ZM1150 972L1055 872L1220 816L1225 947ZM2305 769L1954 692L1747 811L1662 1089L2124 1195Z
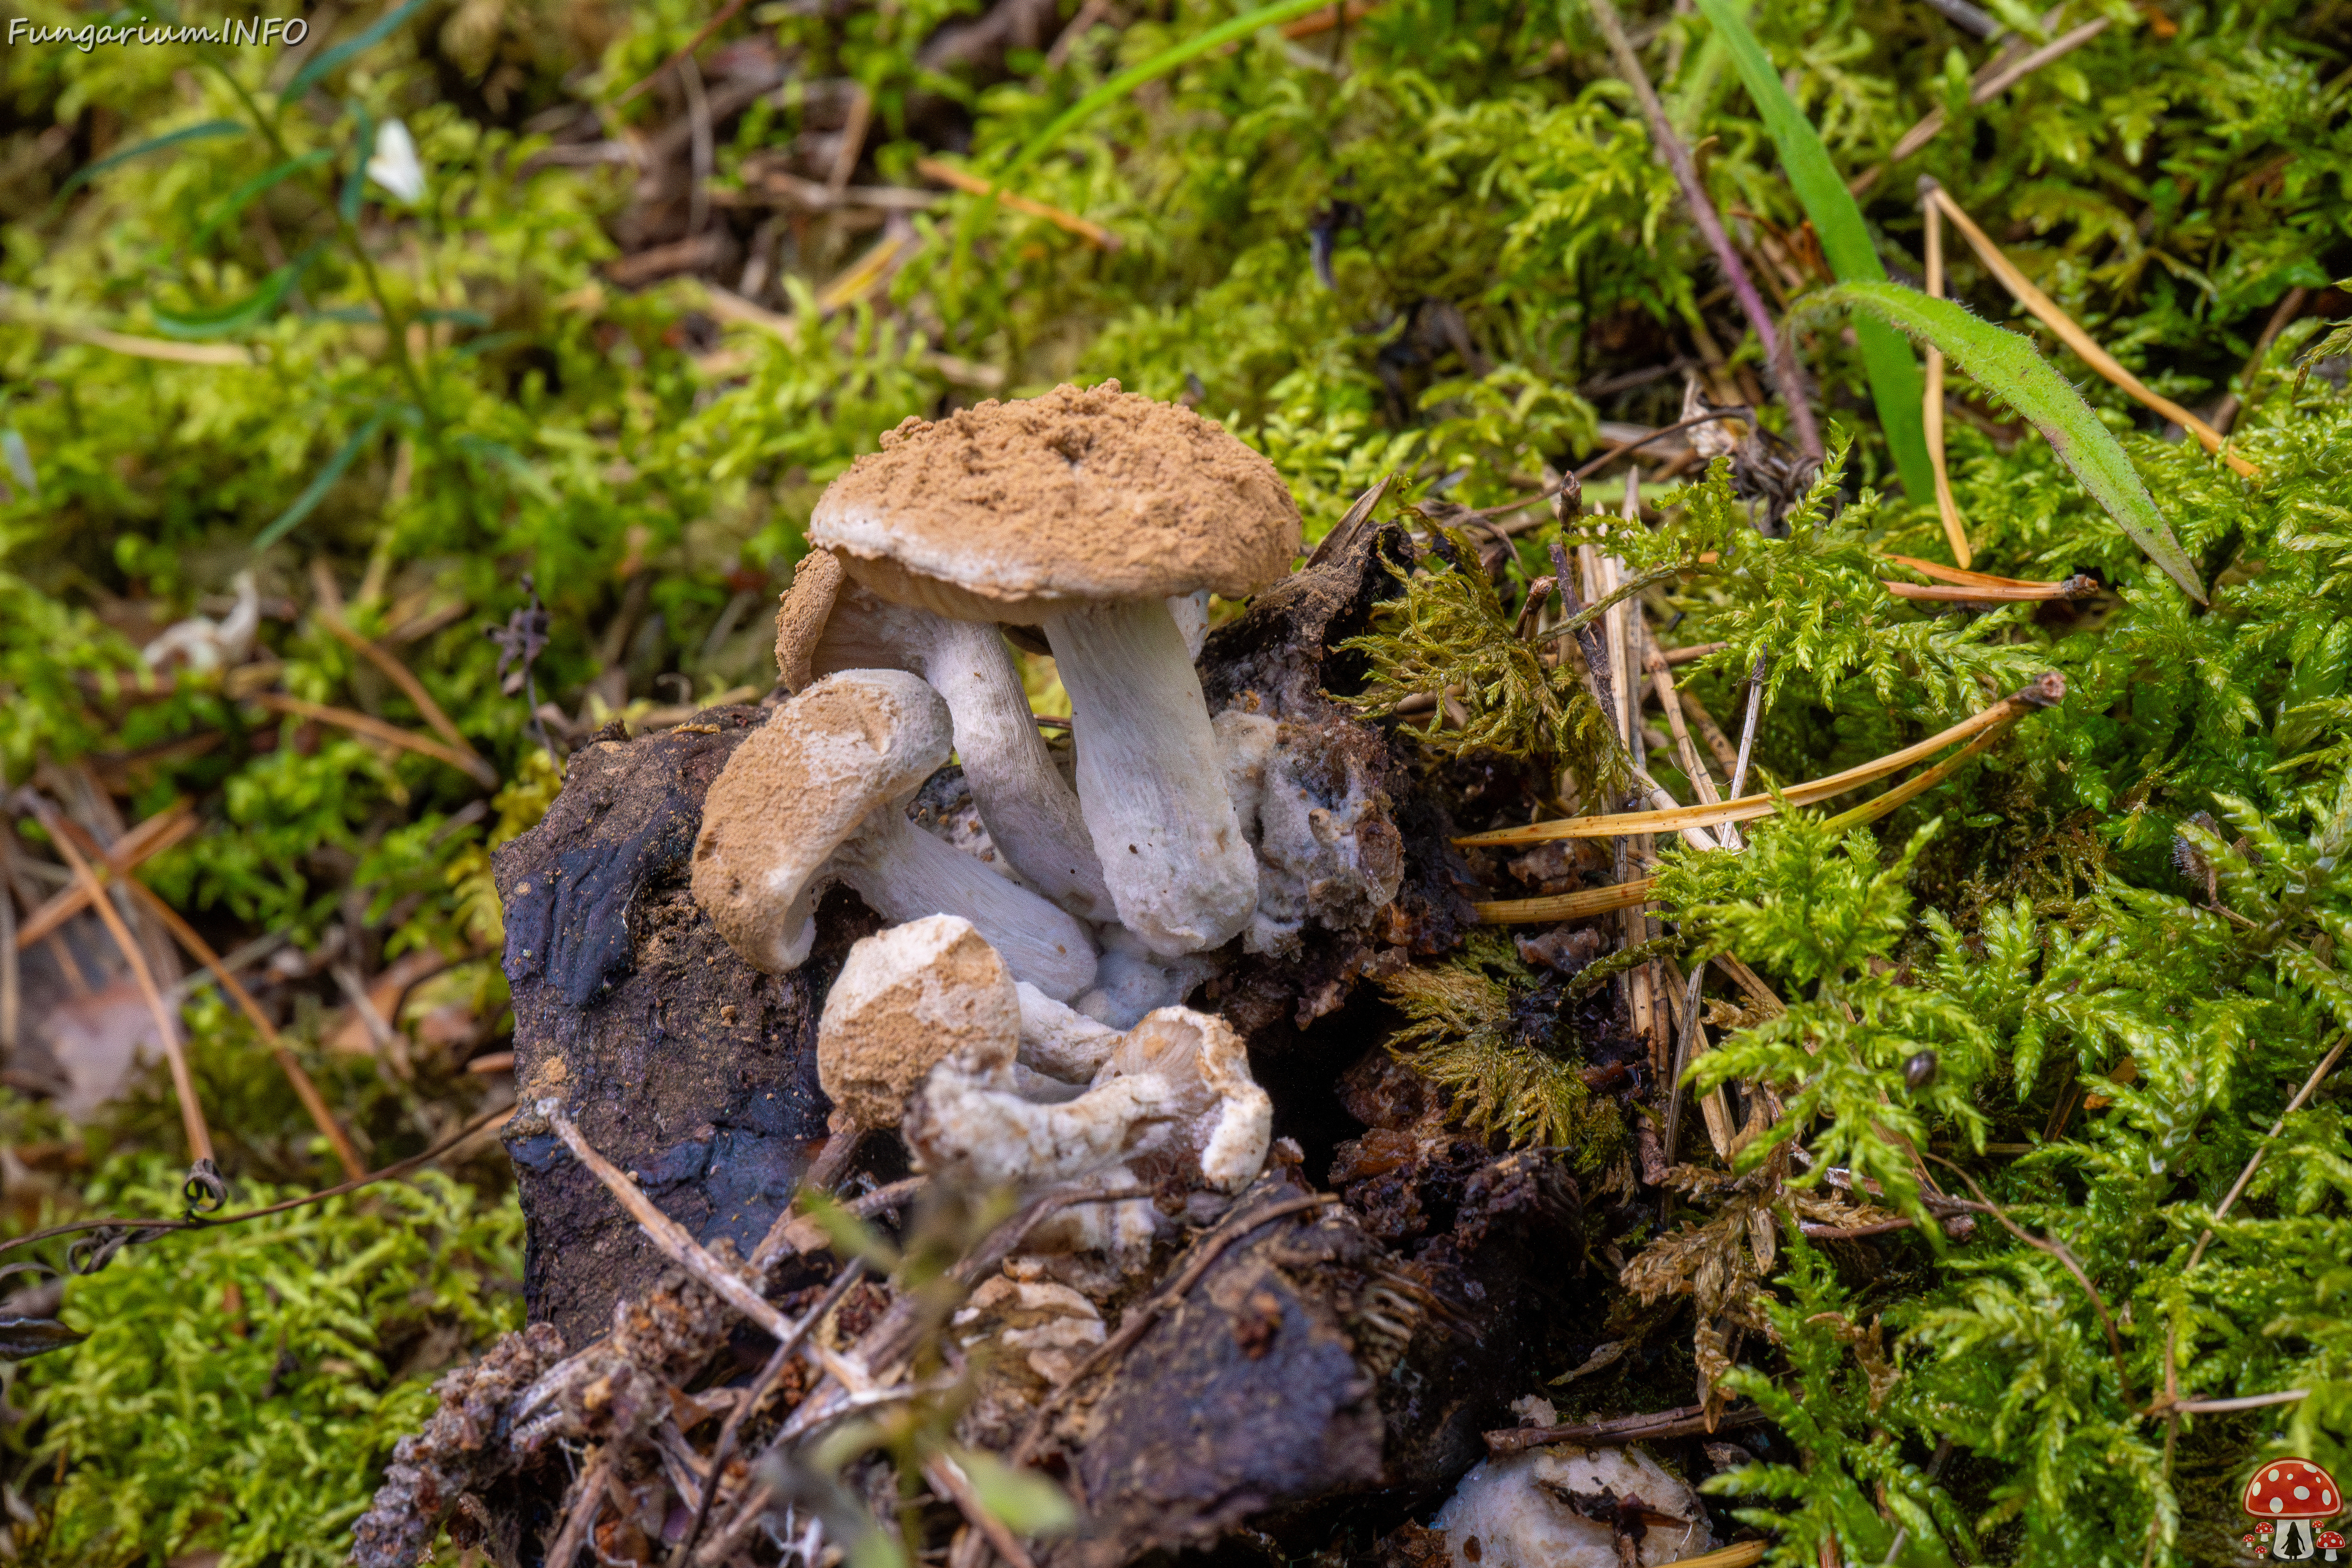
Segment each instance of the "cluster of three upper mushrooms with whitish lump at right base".
M696 900L753 966L807 959L844 882L891 922L971 922L1016 983L1131 1030L1235 950L1291 952L1310 914L1362 924L1395 896L1392 856L1355 837L1385 802L1310 780L1275 717L1211 722L1209 595L1298 552L1282 477L1211 421L1115 381L906 421L826 489L809 543L776 616L790 698L694 849ZM1068 750L1007 632L1051 651ZM950 755L978 818L962 849L906 820Z

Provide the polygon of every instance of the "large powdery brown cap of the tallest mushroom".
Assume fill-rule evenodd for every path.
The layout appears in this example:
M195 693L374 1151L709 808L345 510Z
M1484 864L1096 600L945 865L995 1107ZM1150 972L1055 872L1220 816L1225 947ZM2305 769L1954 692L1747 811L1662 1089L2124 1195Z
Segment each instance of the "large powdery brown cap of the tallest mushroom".
M1298 505L1214 421L1105 381L906 421L826 489L809 541L887 599L1035 623L1082 602L1256 592L1298 555Z

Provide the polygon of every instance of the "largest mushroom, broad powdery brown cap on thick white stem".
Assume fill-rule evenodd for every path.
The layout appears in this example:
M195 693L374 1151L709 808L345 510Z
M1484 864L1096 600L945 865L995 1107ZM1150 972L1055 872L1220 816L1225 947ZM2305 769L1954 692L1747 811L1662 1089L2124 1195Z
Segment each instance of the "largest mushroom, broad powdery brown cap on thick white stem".
M1298 508L1272 463L1115 381L1061 386L898 425L826 489L809 541L894 604L1042 625L1120 922L1167 957L1249 926L1256 856L1169 597L1282 576Z

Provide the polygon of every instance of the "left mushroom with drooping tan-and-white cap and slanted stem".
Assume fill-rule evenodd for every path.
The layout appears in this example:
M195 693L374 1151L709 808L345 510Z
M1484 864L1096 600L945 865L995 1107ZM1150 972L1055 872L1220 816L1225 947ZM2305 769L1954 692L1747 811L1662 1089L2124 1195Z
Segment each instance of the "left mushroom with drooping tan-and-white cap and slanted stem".
M694 903L753 969L800 966L816 893L847 882L884 919L969 919L1021 980L1075 997L1094 943L1068 912L906 820L948 759L948 705L901 670L828 675L743 738L703 799Z

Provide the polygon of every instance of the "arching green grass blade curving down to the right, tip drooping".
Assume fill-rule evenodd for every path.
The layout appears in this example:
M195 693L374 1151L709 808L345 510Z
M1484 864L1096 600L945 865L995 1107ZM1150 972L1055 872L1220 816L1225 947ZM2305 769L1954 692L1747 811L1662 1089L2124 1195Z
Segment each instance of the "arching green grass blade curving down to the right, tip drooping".
M2140 470L2124 456L2124 447L2107 433L2107 425L2098 423L2098 414L2082 400L2082 393L2070 388L2027 339L1978 320L1952 301L1929 299L1891 282L1842 282L1818 294L1813 303L1823 310L1865 310L1907 336L1940 348L1978 386L2034 421L2058 461L2074 470L2082 487L2107 508L2131 543L2140 545L2147 559L2164 569L2164 576L2180 583L2185 595L2199 604L2206 602L2197 564L2173 538L2173 529L2157 510L2154 496L2147 494Z

